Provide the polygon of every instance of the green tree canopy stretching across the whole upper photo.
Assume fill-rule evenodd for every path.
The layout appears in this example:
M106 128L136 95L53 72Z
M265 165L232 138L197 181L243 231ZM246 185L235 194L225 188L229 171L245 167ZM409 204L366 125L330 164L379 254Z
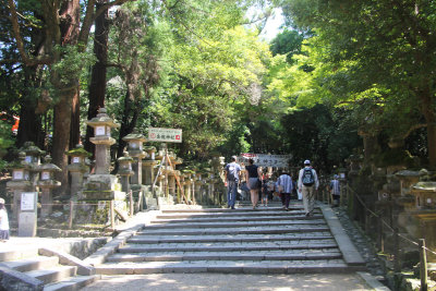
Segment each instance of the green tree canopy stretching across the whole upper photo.
M267 44L247 15L264 24L272 7L287 23ZM118 156L123 136L159 126L183 130L173 147L185 159L291 154L294 165L311 158L328 170L372 136L436 166L435 9L386 0L3 1L0 110L21 120L16 136L0 133L0 147L33 141L64 168L64 153L89 138L83 121L105 106L121 123Z

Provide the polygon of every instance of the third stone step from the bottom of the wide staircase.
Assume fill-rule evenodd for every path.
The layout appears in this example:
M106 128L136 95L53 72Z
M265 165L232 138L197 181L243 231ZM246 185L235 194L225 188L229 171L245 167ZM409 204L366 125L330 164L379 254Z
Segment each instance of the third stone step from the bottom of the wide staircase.
M307 244L305 242L280 242L280 243L186 243L186 244L158 244L158 245L142 245L126 244L118 250L119 253L152 253L152 252L234 252L234 251L276 251L281 250L287 252L290 250L310 250L310 248L337 248L336 243L325 243L319 241Z

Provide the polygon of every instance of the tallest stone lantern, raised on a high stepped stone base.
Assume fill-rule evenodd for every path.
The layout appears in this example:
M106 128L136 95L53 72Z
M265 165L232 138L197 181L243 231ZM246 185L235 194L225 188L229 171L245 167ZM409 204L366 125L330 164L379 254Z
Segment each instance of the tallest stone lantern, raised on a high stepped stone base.
M113 120L106 113L105 108L98 110L97 117L86 124L94 128L94 137L89 141L96 145L96 174L108 174L110 167L110 146L116 143L116 140L110 136L112 129L119 128L120 124L114 123Z

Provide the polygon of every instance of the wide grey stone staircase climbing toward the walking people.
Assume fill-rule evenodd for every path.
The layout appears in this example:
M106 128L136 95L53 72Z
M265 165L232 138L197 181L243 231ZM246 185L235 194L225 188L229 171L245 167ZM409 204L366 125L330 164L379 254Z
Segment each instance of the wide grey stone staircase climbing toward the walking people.
M255 210L243 205L237 209L162 210L96 271L295 274L365 269L348 237L337 226L334 234L330 232L335 222L325 219L327 210L316 208L314 216L306 217L301 203L290 207L290 211L278 204Z

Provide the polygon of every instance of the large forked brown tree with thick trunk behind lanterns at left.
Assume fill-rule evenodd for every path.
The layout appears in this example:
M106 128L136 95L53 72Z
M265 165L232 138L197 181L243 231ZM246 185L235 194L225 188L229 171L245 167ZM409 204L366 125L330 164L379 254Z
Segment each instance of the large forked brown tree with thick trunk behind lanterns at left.
M80 0L70 1L32 1L33 9L41 13L41 31L45 36L43 48L38 53L32 53L33 47L27 47L22 31L25 29L19 22L20 5L15 1L8 0L9 16L15 39L20 62L25 66L45 65L48 68L49 84L52 88L51 98L53 105L53 162L65 169L70 142L78 142L78 74L83 65L89 60L85 48L88 41L90 27L95 17L108 8L122 4L128 0L113 0L95 9L95 0L86 2L82 10ZM26 1L25 1L26 2ZM32 21L32 19L29 19ZM82 20L82 22L81 22ZM74 123L72 123L72 116ZM71 128L73 126L73 131ZM73 138L70 135L73 133ZM58 178L63 186L66 186L68 172L62 171Z

